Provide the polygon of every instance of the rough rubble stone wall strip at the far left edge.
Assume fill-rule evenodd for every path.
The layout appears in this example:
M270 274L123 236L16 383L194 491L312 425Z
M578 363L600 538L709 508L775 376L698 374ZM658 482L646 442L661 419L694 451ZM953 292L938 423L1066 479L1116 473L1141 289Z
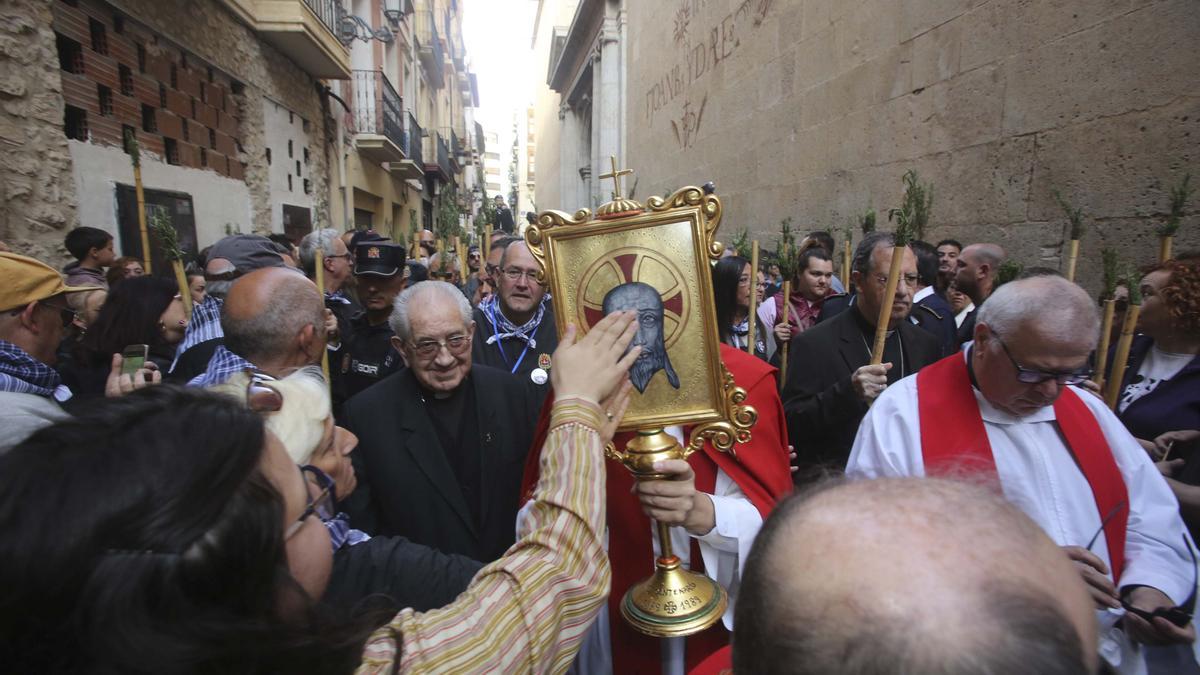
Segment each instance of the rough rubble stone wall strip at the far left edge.
M50 20L47 0L0 7L0 240L59 261L79 222Z

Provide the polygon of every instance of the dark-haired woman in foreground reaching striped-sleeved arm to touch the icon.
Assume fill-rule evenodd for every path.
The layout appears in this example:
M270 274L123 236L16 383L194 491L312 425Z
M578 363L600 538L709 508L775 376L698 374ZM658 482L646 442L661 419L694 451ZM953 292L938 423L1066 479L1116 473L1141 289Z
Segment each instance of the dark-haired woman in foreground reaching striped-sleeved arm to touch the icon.
M0 456L6 668L565 670L608 591L602 448L628 405L638 350L622 354L635 331L631 315L578 344L568 330L520 543L451 605L390 620L316 599L332 567L326 488L314 495L263 419L228 396L152 388L38 431ZM258 389L247 399L271 407Z

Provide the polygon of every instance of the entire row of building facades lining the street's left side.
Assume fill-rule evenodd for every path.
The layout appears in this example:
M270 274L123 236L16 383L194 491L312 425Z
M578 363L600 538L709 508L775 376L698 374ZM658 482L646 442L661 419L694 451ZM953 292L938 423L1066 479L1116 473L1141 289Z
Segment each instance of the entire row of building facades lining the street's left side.
M234 232L469 217L478 106L457 0L13 0L0 26L0 240L66 231L142 255L146 211L190 251Z

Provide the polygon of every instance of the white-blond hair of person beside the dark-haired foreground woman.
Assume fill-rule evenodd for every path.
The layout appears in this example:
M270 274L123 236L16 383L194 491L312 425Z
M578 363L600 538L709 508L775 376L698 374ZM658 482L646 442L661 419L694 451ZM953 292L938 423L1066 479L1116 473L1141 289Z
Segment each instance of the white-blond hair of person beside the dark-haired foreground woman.
M238 372L211 389L245 404L248 382L250 375ZM266 430L283 443L292 461L308 464L325 437L325 423L332 414L325 377L319 368L306 366L266 384L283 399L278 411L263 413Z

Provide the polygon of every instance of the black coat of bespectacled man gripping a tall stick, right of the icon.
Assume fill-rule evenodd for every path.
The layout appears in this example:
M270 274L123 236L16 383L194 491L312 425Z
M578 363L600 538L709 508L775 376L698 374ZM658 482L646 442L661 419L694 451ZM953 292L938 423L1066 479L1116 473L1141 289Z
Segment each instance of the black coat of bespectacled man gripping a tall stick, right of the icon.
M811 478L817 467L845 470L858 425L866 414L866 404L850 383L851 375L870 362L858 313L856 309L842 311L792 340L781 398L787 437L800 466L798 482ZM907 321L900 323L899 330L905 375L941 357L937 339L928 331ZM888 381L899 376L900 364L893 364Z

